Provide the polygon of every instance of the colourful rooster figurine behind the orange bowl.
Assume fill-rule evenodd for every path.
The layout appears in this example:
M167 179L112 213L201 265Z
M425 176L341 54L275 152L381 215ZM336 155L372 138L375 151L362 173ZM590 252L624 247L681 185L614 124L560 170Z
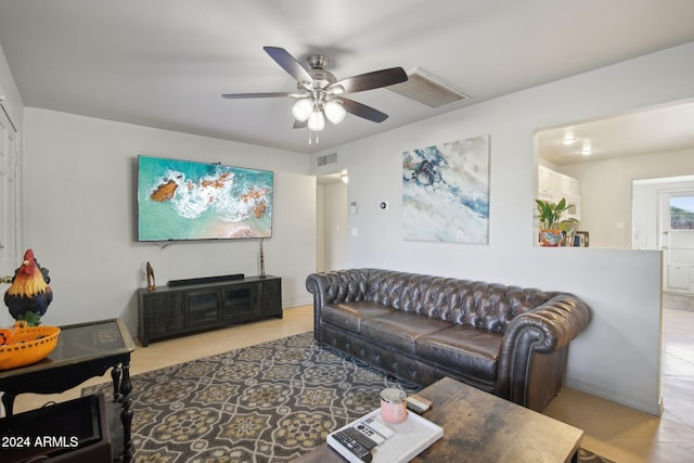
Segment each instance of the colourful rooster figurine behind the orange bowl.
M27 249L24 262L14 271L12 284L4 293L4 304L12 317L29 325L39 324L53 300L53 291L48 285L50 282L48 269L41 268L34 257L34 250Z

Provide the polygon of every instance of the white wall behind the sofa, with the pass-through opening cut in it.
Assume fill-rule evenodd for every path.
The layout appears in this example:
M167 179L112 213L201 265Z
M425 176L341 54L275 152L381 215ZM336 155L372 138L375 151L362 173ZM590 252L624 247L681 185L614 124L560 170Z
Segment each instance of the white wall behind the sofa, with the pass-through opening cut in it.
M534 246L532 137L542 127L690 98L693 75L690 43L339 146L337 168L349 171L348 201L359 207L349 216L348 228L358 230L349 266L575 293L592 321L570 346L566 384L659 414L660 254ZM491 136L489 245L403 241L402 152L481 134ZM377 208L384 200L387 210Z

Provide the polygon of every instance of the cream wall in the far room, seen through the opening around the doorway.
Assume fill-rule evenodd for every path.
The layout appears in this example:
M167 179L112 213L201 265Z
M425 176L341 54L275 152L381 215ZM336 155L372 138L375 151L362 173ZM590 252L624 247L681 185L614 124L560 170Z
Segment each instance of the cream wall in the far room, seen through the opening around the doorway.
M631 182L694 173L694 150L578 163L558 171L581 183L580 230L590 232L590 246L629 249Z

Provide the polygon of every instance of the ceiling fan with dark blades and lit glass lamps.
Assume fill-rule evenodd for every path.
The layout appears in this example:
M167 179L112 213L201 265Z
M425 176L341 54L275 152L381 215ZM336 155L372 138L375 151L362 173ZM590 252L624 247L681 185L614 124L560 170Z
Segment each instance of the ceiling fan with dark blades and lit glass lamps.
M283 48L264 47L262 49L296 79L296 92L226 93L222 97L232 100L277 97L297 99L292 107L292 114L296 119L294 128L308 127L314 132L325 128L325 119L339 124L346 113L374 123L384 121L388 118L387 114L343 95L387 87L408 79L408 75L401 67L391 67L337 80L331 72L325 70L329 63L326 56L321 54L308 56L306 61L309 68L307 69Z

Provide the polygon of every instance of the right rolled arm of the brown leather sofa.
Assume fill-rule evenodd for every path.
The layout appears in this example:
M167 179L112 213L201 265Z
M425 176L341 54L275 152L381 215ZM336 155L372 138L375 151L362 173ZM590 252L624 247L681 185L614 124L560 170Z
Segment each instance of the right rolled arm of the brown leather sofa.
M505 330L497 362L498 393L525 404L531 387L528 376L534 353L565 356L562 349L583 331L589 320L586 303L571 294L560 293L514 318Z

